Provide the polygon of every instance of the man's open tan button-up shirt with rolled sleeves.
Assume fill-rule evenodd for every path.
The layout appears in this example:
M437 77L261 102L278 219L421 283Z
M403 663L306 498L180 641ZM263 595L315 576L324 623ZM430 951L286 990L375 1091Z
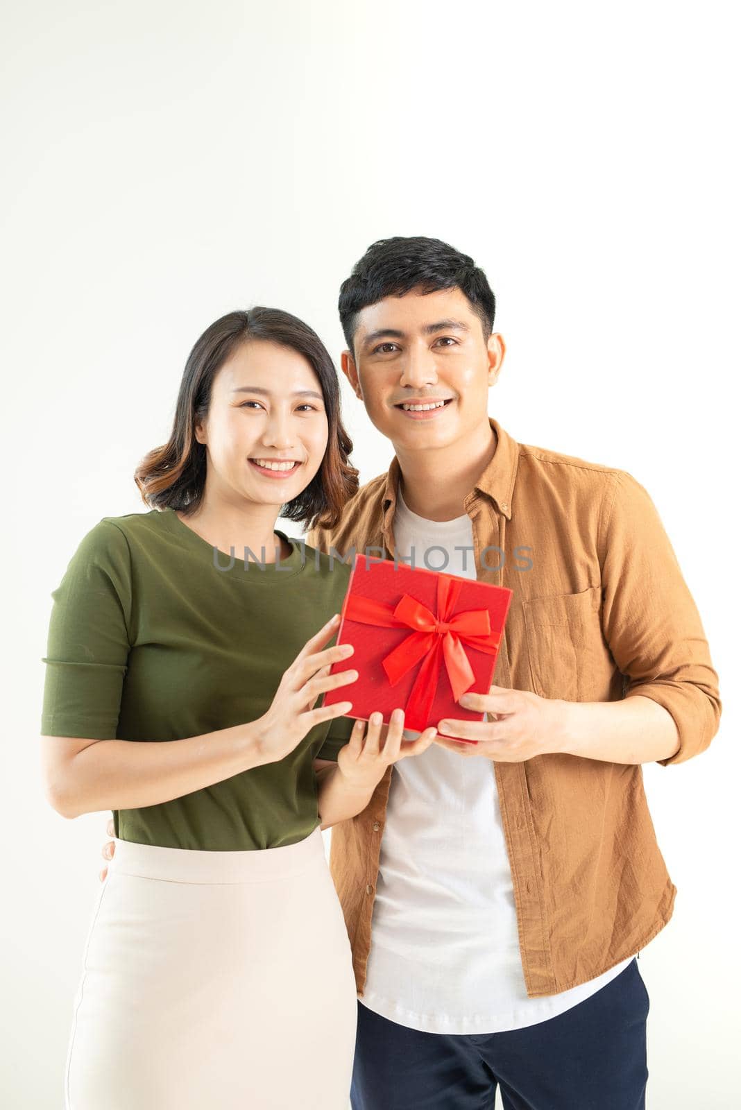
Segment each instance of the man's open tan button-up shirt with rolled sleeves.
M514 591L495 685L571 702L650 697L679 731L678 750L659 763L698 755L718 730L718 675L648 493L625 471L517 443L489 423L496 451L464 507L478 581ZM314 528L307 544L393 558L399 473L394 456L339 525ZM327 739L319 756L336 758L343 743ZM548 754L494 770L528 995L568 990L643 948L669 921L677 888L641 765ZM362 814L332 830L359 995L393 774Z

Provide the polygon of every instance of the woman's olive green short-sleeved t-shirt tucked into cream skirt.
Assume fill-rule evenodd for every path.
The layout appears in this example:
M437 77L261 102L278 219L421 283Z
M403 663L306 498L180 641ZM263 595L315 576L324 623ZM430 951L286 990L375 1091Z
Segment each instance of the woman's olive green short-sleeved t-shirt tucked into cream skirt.
M275 531L291 555L235 552L245 563L170 508L103 517L52 593L41 734L149 744L261 717L306 640L342 608L351 571ZM313 760L336 758L352 725L325 722L280 763L118 810L116 836L215 851L303 840L318 824Z

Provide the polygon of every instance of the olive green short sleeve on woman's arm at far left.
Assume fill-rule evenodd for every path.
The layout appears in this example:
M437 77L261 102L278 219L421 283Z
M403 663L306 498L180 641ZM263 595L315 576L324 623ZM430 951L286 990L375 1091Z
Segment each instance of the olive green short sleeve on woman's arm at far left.
M126 673L131 555L123 532L100 521L52 593L42 736L114 739Z

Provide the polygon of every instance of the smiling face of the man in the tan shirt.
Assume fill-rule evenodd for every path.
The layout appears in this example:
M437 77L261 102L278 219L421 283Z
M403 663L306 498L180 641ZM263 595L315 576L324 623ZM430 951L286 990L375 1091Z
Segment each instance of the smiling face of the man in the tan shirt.
M480 317L459 289L412 291L363 309L355 351L343 371L372 422L397 448L444 447L488 422L488 392L505 344L484 336ZM403 403L440 407L422 412Z

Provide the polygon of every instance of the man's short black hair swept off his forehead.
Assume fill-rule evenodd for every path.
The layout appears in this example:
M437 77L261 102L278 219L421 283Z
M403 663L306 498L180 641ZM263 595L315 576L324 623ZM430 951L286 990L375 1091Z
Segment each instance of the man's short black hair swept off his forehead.
M423 293L459 289L479 316L488 340L496 300L484 271L467 254L439 239L395 235L373 243L339 286L339 321L349 350L354 350L357 316L363 309L386 296L404 296L413 289Z

